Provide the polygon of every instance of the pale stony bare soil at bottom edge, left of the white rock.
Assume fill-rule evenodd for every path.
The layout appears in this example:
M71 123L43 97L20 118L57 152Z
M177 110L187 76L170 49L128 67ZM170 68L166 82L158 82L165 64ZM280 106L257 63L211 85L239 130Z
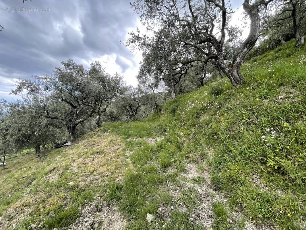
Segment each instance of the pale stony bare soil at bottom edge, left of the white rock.
M106 204L101 199L86 205L81 216L70 225L68 230L122 230L126 222L118 212L116 204Z

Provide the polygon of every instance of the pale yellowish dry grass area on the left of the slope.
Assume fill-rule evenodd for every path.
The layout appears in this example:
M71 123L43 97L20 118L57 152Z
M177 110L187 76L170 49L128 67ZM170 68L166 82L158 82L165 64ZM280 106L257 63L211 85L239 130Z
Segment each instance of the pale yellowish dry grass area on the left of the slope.
M42 222L49 224L39 229L68 227L80 214L73 204L80 207L101 195L107 184L121 180L131 168L123 146L121 138L98 129L64 151L49 151L43 161L35 155L9 156L7 169L0 171L0 229L26 229ZM65 219L72 220L63 224L50 212L56 217L67 212Z

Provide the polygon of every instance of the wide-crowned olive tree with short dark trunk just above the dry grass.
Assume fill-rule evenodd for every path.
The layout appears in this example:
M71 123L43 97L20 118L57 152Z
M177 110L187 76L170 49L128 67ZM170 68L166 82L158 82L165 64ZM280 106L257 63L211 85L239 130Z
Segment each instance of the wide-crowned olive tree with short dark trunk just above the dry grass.
M97 100L92 93L88 71L72 59L61 62L53 75L35 76L34 80L19 80L13 94L22 94L30 98L41 98L44 116L56 125L63 125L72 141L76 139L76 127L88 120L96 112Z

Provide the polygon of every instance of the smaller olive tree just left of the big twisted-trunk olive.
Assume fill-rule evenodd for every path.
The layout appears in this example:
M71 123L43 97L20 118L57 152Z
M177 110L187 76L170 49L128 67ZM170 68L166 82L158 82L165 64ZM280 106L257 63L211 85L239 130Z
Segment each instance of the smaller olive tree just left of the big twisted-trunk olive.
M162 80L169 88L171 98L175 98L176 86L192 67L191 64L200 59L186 49L178 40L180 35L167 26L162 26L153 38L137 32L130 33L126 44L143 52L139 78L152 79L150 85L155 84L155 87Z

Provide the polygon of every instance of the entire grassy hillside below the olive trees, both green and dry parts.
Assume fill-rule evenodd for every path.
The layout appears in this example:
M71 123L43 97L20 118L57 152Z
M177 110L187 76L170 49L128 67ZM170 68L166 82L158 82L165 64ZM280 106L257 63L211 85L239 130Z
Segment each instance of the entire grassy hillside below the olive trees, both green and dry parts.
M214 80L43 162L8 159L0 228L306 229L306 47L242 73L241 87Z

